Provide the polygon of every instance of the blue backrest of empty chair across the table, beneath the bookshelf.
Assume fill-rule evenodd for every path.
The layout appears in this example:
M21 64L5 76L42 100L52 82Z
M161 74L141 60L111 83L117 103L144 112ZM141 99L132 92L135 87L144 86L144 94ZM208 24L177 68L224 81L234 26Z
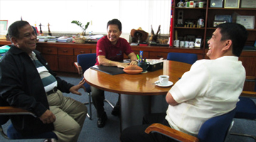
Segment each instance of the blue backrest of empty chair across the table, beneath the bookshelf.
M167 60L185 62L192 65L198 58L197 55L193 53L168 53Z

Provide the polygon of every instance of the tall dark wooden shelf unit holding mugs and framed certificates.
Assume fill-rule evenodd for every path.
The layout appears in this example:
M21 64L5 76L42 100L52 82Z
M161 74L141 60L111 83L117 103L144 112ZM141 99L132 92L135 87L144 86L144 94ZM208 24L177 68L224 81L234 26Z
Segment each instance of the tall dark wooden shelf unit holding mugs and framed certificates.
M213 22L215 15L230 15L233 16L233 22L236 22L236 16L255 16L256 17L256 9L225 9L225 8L211 8L210 0L205 0L206 5L203 8L181 8L178 7L177 4L180 0L174 0L174 26L173 26L173 35L171 35L173 40L175 40L175 33L177 33L177 38L179 40L192 40L193 38L201 38L202 45L198 50L208 49L207 40L211 37L213 32L215 31L215 27L213 27ZM241 2L241 1L240 1ZM223 1L224 3L224 1ZM223 4L224 5L224 4ZM241 4L240 4L241 5ZM183 25L188 22L197 23L199 18L204 19L204 26L199 27L191 27ZM181 20L182 19L182 20ZM182 21L182 22L181 22ZM181 24L183 23L183 25ZM256 21L255 26L256 27ZM248 29L249 36L247 38L247 42L245 45L252 46L255 43L256 39L256 29ZM186 39L184 39L184 37ZM195 40L193 40L195 41Z

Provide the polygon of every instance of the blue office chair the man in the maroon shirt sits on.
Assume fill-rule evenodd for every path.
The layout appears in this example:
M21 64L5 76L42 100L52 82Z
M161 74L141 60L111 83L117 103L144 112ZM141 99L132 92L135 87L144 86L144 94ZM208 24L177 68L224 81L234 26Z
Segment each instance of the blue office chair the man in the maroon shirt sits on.
M78 74L82 75L82 79L83 79L83 73L85 72L85 70L95 65L95 63L96 63L96 53L78 55L78 65L75 65L75 66L78 68ZM85 103L85 104L89 104L89 109L90 109L90 114L87 114L87 116L89 117L89 119L92 119L92 100L91 100L91 94L90 94L92 90L90 89L90 84L87 84L87 82L85 82L84 86L89 97L89 101ZM110 104L112 108L114 108L114 106L110 103L110 101L108 101L107 99L105 99L104 101Z

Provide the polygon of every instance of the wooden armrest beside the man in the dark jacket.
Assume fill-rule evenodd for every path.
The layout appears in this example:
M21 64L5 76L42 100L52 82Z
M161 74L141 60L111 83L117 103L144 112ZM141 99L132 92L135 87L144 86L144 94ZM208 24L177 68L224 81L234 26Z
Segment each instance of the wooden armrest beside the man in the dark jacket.
M36 117L32 112L18 107L0 107L0 115L32 115Z

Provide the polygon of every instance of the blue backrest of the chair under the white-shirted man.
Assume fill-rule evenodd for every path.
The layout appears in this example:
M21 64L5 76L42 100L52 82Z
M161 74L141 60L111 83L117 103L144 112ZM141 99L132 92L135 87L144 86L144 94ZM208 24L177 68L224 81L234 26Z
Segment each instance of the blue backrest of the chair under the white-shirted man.
M201 142L222 142L230 131L230 127L233 124L233 117L235 116L235 110L215 116L208 119L200 128L198 132L198 139Z

